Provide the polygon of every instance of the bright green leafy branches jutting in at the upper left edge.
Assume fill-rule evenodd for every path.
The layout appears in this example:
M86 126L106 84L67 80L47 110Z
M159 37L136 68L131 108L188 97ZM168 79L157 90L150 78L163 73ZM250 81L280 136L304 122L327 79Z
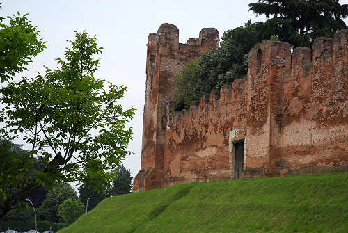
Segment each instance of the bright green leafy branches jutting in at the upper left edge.
M0 3L0 8L1 8ZM45 48L36 26L26 15L0 17L0 81L10 81L15 72L26 70L24 65Z

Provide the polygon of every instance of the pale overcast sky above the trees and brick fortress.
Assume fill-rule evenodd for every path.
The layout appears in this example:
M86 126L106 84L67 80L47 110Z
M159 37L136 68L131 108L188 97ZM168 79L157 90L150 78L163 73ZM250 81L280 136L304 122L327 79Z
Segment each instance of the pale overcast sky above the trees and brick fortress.
M143 106L145 97L146 43L149 33L157 33L162 23L175 24L180 31L179 40L185 43L197 38L203 27L214 27L220 36L228 29L252 22L264 21L248 12L248 3L242 0L152 0L152 1L90 1L90 0L0 0L4 2L0 16L29 13L33 25L47 41L47 48L33 59L29 72L20 76L33 77L43 72L43 65L56 67L55 58L63 58L66 40L74 40L74 31L86 30L96 35L99 46L104 47L100 70L96 78L106 79L116 85L128 86L122 99L124 106L134 105L136 115L129 150L123 164L134 177L140 170ZM347 4L348 0L341 0ZM348 24L348 19L345 19Z

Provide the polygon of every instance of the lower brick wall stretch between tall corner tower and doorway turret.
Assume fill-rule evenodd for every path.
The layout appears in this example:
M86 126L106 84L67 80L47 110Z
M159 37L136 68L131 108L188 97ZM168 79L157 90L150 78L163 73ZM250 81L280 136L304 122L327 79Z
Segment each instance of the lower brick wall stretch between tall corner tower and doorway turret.
M245 137L244 80L223 86L220 93L211 93L182 112L173 111L172 102L168 102L164 112L166 143L161 186L231 177L230 131L241 129L235 138Z

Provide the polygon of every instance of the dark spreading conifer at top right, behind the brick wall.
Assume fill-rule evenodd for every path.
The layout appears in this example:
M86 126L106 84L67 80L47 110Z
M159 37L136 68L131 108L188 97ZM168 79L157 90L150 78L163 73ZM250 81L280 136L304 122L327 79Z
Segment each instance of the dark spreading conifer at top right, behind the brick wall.
M348 16L348 5L338 0L259 0L250 3L249 10L266 15L264 31L294 47L310 47L319 36L333 37L335 31L347 29L342 18Z

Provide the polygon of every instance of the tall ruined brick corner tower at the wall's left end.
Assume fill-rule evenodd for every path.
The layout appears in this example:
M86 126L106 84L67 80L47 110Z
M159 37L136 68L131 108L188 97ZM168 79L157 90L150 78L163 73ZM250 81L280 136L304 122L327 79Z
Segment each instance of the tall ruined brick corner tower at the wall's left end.
M166 127L164 104L173 99L173 79L184 64L219 47L219 31L202 29L196 39L179 43L179 29L162 24L148 37L146 59L146 90L143 117L141 170L134 179L134 191L161 187L164 169Z

